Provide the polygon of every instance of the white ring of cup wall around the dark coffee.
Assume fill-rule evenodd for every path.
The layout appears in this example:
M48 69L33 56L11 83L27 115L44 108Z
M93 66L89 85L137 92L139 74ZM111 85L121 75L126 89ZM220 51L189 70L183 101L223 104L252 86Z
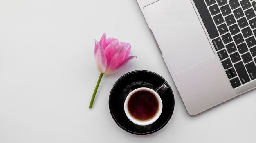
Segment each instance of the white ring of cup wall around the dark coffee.
M130 97L138 91L149 91L149 92L153 93L153 95L155 95L155 97L157 98L157 101L158 101L159 107L158 107L157 113L155 114L155 116L153 118L146 120L146 121L140 121L138 119L135 119L134 117L132 117L132 115L130 115L130 112L128 111L128 101L129 101ZM160 117L160 115L162 113L162 109L163 109L162 99L160 98L158 93L155 92L153 89L146 88L146 87L141 87L141 88L135 89L132 92L130 92L124 102L124 112L125 112L126 116L128 117L128 119L130 119L130 121L132 121L134 124L141 125L141 126L146 126L146 125L154 123Z

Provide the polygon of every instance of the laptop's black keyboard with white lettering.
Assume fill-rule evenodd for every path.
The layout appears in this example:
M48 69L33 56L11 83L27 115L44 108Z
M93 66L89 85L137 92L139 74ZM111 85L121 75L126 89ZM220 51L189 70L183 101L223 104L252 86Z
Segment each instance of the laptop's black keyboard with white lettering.
M256 79L255 0L194 0L231 86Z

